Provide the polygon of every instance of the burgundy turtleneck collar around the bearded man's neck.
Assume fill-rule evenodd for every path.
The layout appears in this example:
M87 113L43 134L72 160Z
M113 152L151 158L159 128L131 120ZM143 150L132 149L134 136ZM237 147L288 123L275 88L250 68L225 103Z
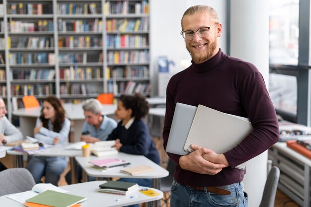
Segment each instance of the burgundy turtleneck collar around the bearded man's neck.
M223 53L222 50L219 48L218 53L210 60L207 60L200 64L196 64L193 62L193 60L191 60L191 70L193 70L194 72L206 72L217 67L221 62L223 62L223 60L225 60L226 57L227 55Z

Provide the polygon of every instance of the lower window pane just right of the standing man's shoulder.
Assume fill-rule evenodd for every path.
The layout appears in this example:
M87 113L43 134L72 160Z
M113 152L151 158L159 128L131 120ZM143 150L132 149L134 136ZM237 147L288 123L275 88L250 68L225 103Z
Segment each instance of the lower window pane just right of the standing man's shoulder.
M296 76L270 73L269 93L275 109L297 115Z

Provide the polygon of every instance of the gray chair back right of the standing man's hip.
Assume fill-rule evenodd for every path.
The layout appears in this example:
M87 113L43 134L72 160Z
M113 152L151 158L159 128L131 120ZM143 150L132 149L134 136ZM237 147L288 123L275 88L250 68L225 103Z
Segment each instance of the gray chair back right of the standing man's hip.
M274 207L279 178L280 169L276 166L273 166L268 174L259 207Z

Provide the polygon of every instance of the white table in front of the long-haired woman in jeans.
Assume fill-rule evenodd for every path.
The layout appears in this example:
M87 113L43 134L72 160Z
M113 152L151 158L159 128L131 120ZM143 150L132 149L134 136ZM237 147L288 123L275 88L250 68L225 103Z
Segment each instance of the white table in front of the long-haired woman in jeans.
M69 143L71 144L71 143ZM65 145L66 146L66 145ZM41 152L38 154L31 154L28 156L47 156L47 157L68 157L71 165L72 171L72 183L77 183L77 162L75 160L75 156L80 156L82 154L82 150L77 149L65 149L65 146L55 146L48 148L48 151ZM22 152L15 150L7 150L7 154L13 155L13 167L23 167L24 160Z

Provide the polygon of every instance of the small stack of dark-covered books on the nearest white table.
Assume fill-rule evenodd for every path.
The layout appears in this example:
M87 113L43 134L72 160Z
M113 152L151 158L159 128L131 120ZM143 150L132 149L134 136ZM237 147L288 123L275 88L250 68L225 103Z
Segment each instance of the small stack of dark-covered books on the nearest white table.
M108 181L99 185L98 192L117 194L126 196L139 189L137 183L123 182L123 181Z

